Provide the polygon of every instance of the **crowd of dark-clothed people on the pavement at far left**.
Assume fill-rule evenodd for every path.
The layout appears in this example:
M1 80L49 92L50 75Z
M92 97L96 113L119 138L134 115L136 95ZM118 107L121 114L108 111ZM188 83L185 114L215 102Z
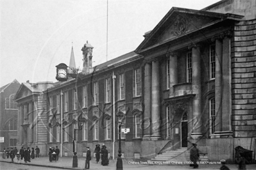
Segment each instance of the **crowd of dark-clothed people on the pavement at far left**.
M17 150L17 148L15 147L14 149L11 148L11 150L9 150L9 148L7 148L5 150L5 148L3 149L3 158L12 158L12 162L13 159L15 157L17 157L17 161L19 162L20 160L22 160L24 158L24 162L30 162L30 158L35 158L35 151L36 151L36 157L39 157L39 153L40 153L40 149L38 148L31 148L32 151L30 150L30 147L28 148L23 148L21 147L21 150Z

